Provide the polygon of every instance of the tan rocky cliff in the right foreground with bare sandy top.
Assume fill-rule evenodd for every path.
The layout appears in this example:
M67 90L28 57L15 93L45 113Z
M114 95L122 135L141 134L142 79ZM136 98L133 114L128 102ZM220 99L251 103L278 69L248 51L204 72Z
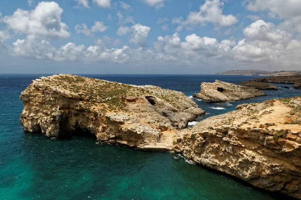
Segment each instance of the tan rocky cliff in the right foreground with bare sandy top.
M301 198L301 97L243 104L179 133L175 149L270 191Z

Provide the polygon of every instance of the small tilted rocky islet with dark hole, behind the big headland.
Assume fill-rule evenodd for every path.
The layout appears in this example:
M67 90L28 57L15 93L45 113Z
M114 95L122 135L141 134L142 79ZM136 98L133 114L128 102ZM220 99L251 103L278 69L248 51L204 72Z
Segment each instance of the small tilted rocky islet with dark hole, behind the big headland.
M201 92L193 97L210 102L228 102L266 95L264 92L238 84L215 80L215 82L202 82Z

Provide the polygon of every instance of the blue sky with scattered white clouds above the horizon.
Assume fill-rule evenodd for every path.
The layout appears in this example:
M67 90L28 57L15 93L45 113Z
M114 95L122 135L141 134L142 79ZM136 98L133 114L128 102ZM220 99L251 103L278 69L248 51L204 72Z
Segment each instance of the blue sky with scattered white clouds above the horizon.
M2 0L0 73L301 70L301 0Z

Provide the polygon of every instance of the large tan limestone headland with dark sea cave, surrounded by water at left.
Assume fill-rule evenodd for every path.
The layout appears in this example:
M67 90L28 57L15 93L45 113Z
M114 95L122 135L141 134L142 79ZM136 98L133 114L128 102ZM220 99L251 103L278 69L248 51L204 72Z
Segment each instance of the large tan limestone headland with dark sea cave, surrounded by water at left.
M25 131L63 137L81 130L140 148L171 149L177 128L205 114L182 92L67 74L34 80L20 98Z

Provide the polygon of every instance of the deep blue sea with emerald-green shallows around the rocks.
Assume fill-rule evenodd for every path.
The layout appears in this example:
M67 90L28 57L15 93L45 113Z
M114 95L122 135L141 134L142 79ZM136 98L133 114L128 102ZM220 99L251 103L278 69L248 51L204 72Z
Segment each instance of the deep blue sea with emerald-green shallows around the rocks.
M44 74L45 75L45 74ZM0 74L0 199L280 199L249 185L189 163L170 152L145 152L96 143L93 137L50 139L25 133L20 93L41 75ZM85 75L128 84L153 84L191 96L202 81L240 83L257 76ZM283 86L284 84L276 84ZM205 117L237 104L301 95L279 88L268 95L214 104L194 99ZM202 118L201 118L202 119ZM199 119L199 120L201 120ZM283 198L282 198L283 199Z

